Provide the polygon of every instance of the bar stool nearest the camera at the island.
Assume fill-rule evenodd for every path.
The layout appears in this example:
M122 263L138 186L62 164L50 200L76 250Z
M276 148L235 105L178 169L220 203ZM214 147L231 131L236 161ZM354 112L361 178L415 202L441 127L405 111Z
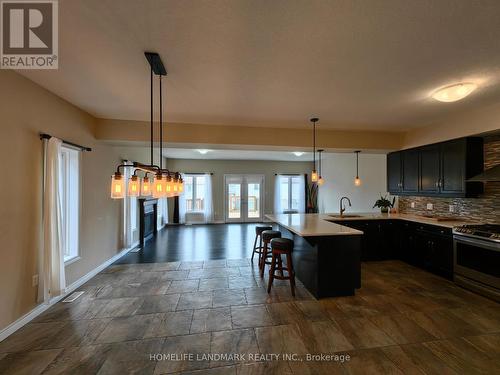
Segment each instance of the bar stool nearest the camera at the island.
M269 270L267 292L271 292L274 279L290 280L292 296L295 297L295 271L293 270L292 263L293 241L288 238L273 238L271 240L271 251L271 269ZM286 256L286 267L283 267L283 260L281 259L282 255ZM276 275L276 270L279 271L279 275ZM286 276L283 274L283 271L286 271Z

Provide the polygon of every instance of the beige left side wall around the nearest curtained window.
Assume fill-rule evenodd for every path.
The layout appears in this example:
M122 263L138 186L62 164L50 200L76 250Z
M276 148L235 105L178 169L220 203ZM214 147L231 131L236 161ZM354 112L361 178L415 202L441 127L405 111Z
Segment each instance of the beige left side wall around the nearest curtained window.
M81 259L66 269L68 285L121 249L120 202L109 198L109 179L122 158L144 150L96 141L95 120L12 71L0 70L0 160L4 180L0 214L0 329L35 306L41 228L42 142L46 132L92 147L82 157ZM139 160L141 161L141 160ZM148 161L147 159L144 161Z

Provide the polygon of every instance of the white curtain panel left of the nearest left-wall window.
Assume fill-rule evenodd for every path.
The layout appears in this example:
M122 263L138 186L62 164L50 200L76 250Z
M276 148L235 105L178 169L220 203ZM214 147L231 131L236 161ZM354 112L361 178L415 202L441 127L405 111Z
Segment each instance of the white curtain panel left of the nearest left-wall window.
M43 243L38 259L38 302L64 293L64 252L61 201L61 145L62 141L50 138L44 141L43 182Z

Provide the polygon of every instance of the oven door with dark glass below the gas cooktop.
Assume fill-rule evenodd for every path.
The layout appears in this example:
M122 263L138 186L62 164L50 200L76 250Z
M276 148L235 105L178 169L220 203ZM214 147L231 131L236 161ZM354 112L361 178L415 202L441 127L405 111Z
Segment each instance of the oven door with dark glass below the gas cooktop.
M455 278L471 279L500 291L500 243L454 236Z

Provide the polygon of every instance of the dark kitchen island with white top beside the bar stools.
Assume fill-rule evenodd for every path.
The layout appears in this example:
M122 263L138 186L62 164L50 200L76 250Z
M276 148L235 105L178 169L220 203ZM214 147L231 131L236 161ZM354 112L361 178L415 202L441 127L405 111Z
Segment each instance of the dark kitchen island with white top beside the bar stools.
M363 232L323 214L266 215L294 240L296 277L316 297L351 296L361 287Z

